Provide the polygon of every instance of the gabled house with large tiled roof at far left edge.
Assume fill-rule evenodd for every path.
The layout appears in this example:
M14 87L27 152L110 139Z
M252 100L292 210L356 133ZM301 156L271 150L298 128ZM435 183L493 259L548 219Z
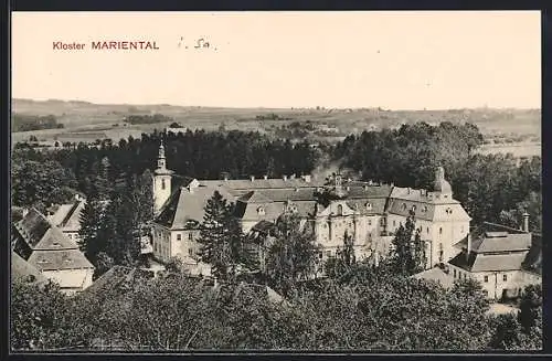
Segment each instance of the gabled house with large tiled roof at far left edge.
M82 291L92 284L94 265L74 241L35 209L13 224L11 244L14 253L66 294Z

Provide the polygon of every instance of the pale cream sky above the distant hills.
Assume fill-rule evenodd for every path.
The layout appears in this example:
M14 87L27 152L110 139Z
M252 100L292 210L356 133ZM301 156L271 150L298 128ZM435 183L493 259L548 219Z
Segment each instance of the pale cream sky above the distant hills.
M210 46L195 49L198 39ZM85 47L54 50L57 41ZM93 50L93 41L155 41L159 50ZM223 107L541 106L538 11L13 12L11 46L14 98Z

